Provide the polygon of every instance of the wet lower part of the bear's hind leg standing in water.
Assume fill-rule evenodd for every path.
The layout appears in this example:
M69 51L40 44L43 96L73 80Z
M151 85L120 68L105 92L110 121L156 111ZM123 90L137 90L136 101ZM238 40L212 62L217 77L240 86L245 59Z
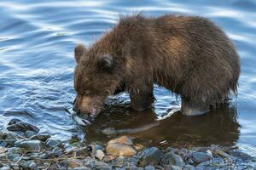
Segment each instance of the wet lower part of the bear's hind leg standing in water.
M210 105L207 102L195 102L193 100L182 98L181 112L186 116L199 116L210 111Z

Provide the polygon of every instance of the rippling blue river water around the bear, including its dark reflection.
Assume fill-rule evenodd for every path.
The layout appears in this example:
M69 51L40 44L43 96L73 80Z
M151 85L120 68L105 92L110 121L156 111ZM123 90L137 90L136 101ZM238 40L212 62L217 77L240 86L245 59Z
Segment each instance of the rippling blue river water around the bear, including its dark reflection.
M180 103L155 87L154 111L134 112L123 94L111 98L102 115L81 129L70 116L73 89L73 48L89 45L113 26L119 14L167 13L206 16L222 27L241 56L239 94L230 109L186 117ZM49 1L0 2L0 125L20 118L59 139L87 132L86 139L107 141L102 133L140 137L145 144L234 144L256 155L256 2L209 1ZM169 114L168 114L169 113ZM172 115L172 116L171 116Z

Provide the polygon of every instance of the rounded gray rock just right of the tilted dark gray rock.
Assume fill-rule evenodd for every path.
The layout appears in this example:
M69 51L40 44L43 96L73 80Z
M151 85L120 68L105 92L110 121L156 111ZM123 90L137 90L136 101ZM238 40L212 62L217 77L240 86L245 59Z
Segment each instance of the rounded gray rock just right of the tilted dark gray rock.
M183 167L184 161L182 156L178 156L172 152L168 152L162 158L162 164Z

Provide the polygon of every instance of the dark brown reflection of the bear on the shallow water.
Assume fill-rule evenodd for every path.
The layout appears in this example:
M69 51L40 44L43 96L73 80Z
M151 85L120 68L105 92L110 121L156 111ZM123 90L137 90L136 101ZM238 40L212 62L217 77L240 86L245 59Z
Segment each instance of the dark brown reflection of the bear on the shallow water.
M223 107L203 116L183 116L177 111L164 120L156 120L154 110L135 112L127 105L113 105L84 130L91 141L104 143L113 135L127 134L143 139L141 142L146 145L234 144L240 134L236 106ZM109 127L115 130L113 135L103 133Z

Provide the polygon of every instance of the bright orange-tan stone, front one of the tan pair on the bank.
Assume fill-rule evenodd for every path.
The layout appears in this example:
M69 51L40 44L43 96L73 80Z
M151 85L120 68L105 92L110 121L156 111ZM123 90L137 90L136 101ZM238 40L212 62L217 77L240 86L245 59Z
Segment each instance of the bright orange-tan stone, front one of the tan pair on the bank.
M127 144L108 144L106 150L109 155L113 156L134 156L137 153L131 145Z

